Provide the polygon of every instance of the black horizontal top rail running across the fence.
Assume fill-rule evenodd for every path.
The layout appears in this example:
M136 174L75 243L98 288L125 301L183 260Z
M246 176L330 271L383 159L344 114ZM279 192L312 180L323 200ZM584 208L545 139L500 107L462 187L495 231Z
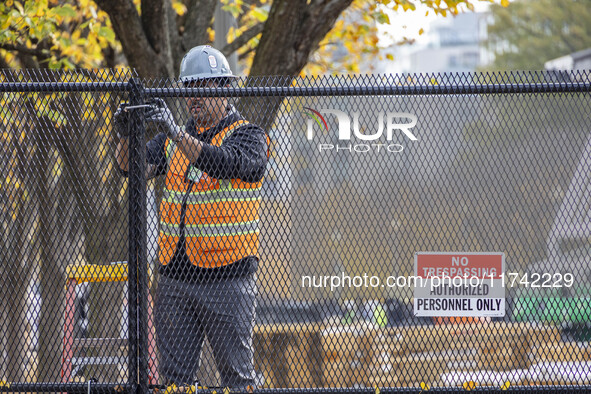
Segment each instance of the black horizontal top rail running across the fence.
M137 80L136 80L137 81ZM347 81L351 82L351 81ZM1 82L1 93L31 92L124 92L143 90L146 97L302 97L302 96L408 96L523 93L587 93L588 82L543 83L453 83L408 85L343 84L337 86L230 86L219 88L159 87L146 88L130 82Z

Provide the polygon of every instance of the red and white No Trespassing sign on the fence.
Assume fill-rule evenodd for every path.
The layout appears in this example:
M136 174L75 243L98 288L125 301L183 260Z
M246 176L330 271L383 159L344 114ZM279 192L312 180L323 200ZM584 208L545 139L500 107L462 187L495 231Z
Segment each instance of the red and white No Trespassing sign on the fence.
M415 316L505 316L504 253L415 253Z

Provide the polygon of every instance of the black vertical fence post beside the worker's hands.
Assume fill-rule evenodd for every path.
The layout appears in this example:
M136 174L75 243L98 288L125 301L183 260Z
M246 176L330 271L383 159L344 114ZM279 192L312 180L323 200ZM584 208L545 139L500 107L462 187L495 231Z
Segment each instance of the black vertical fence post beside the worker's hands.
M144 103L141 81L130 81L130 106ZM130 110L129 139L129 383L136 393L148 392L146 130L143 108Z

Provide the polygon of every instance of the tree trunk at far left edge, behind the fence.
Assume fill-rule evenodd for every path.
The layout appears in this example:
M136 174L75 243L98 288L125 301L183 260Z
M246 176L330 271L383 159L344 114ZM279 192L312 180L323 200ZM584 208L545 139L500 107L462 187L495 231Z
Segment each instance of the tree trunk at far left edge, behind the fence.
M9 70L2 73L10 82L16 76ZM9 136L8 143L2 147L0 165L9 175L5 187L0 191L0 222L3 223L0 241L0 299L2 320L2 363L0 373L8 381L25 381L32 377L28 351L32 350L31 327L27 321L27 300L34 300L27 294L31 283L31 273L35 268L35 250L31 247L29 236L36 219L35 177L28 164L28 155L33 147L28 140L18 141L22 120L25 119L24 97L9 94L6 97L6 110L14 117L4 119L4 132Z

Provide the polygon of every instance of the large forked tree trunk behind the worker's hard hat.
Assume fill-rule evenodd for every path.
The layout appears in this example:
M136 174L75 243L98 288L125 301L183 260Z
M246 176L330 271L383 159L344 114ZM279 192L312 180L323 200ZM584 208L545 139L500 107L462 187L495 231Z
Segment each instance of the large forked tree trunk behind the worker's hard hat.
M168 0L144 0L140 16L130 0L98 0L105 10L131 67L143 78L176 77L183 54L205 44L216 0L188 2L187 13L176 26ZM318 43L333 28L352 0L274 0L250 71L251 77L282 75L282 81L255 80L258 86L289 86ZM154 12L153 10L161 12ZM162 17L165 14L165 17ZM223 48L218 48L222 50ZM181 53L179 53L181 51ZM250 121L269 130L282 103L281 97L244 98L239 109Z

